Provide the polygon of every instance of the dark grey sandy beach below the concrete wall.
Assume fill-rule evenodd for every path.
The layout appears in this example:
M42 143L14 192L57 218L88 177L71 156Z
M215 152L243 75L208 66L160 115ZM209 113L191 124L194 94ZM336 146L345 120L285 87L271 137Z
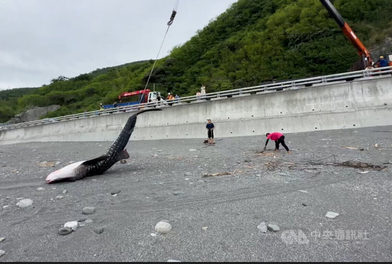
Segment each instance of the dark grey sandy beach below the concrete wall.
M273 141L260 153L265 135L130 141L126 163L51 185L50 172L112 142L2 145L0 261L391 261L392 126L285 136L291 154ZM82 218L92 221L58 234ZM161 220L166 235L154 229Z

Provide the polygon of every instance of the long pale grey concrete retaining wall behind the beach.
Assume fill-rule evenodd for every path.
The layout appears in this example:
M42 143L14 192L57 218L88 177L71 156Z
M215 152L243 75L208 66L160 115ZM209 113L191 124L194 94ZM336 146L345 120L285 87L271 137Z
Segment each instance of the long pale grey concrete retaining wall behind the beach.
M263 135L392 125L392 78L363 79L164 107L138 116L131 140ZM114 141L132 112L0 130L0 144Z

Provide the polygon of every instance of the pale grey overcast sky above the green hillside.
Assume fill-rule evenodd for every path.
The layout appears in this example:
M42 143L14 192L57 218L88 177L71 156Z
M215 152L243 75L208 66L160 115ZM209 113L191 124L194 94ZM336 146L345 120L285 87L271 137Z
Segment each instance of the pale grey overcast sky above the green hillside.
M179 0L159 58L236 0ZM155 59L176 0L0 0L0 90Z

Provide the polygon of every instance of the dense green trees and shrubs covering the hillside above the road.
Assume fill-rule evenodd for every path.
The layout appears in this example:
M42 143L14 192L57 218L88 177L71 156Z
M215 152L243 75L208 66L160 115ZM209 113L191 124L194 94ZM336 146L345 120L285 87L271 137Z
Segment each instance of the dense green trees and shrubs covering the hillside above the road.
M392 35L392 0L332 2L368 48ZM155 83L163 93L187 96L201 84L208 93L345 72L357 59L319 0L239 0L160 59L148 88ZM152 64L133 62L70 79L60 76L38 89L0 92L0 122L31 106L61 105L49 113L53 117L112 104L121 92L143 89Z

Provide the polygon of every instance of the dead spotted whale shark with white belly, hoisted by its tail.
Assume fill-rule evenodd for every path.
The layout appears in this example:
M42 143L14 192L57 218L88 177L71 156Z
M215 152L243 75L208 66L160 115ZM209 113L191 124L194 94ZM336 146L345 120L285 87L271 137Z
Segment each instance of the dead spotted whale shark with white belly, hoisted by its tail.
M108 152L98 158L90 160L77 161L69 164L59 170L56 170L46 178L47 184L63 181L76 181L85 177L100 175L108 170L114 163L122 159L129 158L125 146L128 144L129 138L135 128L137 116L147 111L162 110L160 108L146 109L139 111L128 118L120 135L113 142Z

